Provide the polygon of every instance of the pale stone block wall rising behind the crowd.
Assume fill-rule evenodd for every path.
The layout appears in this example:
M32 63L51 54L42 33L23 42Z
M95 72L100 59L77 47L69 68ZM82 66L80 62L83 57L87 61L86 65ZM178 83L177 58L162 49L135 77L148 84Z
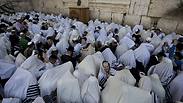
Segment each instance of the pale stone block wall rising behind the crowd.
M77 0L19 0L25 1L23 10L34 9L46 13L68 16L69 7ZM163 31L183 33L183 0L81 0L82 7L89 7L90 19L100 19L118 24L143 24L146 28L157 26ZM24 3L23 3L24 4ZM180 11L177 14L177 11Z

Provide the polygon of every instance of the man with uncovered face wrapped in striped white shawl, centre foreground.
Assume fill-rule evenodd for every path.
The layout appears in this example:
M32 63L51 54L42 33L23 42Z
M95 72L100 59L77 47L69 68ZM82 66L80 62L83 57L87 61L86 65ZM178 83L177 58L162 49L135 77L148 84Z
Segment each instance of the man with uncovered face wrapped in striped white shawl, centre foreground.
M103 61L98 74L98 81L102 90L105 88L105 83L111 75L110 70L110 64L107 61Z

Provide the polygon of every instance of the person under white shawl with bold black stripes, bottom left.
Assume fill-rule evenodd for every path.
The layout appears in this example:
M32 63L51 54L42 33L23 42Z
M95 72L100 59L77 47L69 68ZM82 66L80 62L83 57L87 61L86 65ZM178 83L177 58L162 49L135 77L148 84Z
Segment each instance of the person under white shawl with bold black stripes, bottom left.
M6 98L16 97L23 101L34 100L39 95L36 77L29 71L18 68L6 83L4 93Z

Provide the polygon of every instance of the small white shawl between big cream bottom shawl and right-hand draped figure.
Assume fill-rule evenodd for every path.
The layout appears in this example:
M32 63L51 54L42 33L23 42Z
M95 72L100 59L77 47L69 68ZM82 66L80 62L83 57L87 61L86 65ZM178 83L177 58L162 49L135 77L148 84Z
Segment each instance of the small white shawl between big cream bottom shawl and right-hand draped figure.
M151 79L148 76L141 76L139 83L138 83L139 88L146 90L148 92L151 92L152 90L152 83Z

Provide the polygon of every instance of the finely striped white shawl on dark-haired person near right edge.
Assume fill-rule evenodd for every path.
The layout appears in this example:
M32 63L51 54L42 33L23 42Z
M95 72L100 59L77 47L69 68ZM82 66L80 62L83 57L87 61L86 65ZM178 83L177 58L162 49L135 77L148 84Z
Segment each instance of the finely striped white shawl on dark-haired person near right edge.
M169 58L163 58L163 60L153 67L152 73L158 74L160 81L163 85L166 85L173 76L173 64Z

